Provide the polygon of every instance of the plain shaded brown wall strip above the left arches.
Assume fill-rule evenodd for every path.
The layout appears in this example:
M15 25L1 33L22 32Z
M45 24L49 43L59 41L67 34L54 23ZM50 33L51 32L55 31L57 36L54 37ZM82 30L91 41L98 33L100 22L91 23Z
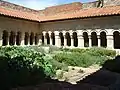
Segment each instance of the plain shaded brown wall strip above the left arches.
M39 32L39 23L0 16L0 31Z

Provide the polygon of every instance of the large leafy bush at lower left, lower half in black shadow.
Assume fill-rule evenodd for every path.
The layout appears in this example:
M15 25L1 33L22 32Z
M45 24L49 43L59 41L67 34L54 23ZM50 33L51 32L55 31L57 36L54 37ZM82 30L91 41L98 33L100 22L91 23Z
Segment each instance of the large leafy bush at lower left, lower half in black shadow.
M0 88L41 83L54 75L44 54L24 47L0 47Z

